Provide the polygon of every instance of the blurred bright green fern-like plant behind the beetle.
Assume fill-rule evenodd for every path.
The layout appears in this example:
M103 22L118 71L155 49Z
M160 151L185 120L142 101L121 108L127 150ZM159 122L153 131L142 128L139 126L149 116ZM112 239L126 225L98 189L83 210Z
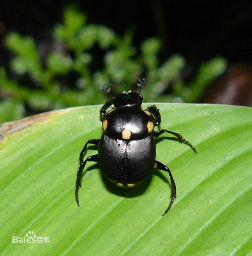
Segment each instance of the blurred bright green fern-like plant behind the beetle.
M8 77L2 67L0 92L12 99L13 108L19 102L38 112L101 104L107 98L100 87L111 87L117 94L135 89L137 81L145 77L147 102L197 102L206 86L226 69L224 58L213 58L185 84L180 77L186 66L183 56L176 54L161 62L158 38L144 40L138 49L133 36L132 30L119 36L104 25L88 24L78 9L67 8L63 23L53 29L51 50L43 56L33 38L15 32L7 35L6 45L14 54L10 66L17 75L16 80ZM97 48L102 58L97 56ZM169 87L172 93L164 94ZM16 118L11 113L7 116L6 120Z

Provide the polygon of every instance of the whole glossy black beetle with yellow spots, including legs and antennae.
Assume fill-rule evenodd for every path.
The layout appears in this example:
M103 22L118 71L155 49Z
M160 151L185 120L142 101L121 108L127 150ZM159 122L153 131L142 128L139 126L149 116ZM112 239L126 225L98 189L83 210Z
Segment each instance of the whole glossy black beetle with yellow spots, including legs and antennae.
M154 127L161 123L161 116L156 105L142 110L143 96L141 90L145 83L139 80L140 92L122 92L115 97L109 94L110 88L102 90L109 94L111 101L106 102L100 109L102 129L100 139L90 139L80 153L76 179L75 198L78 206L78 190L81 186L82 172L88 161L100 163L104 175L115 185L122 188L132 188L144 181L152 172L152 168L167 171L170 176L172 193L170 203L163 213L167 213L176 197L176 185L170 169L156 160L155 139L167 132L176 136L179 141L196 149L180 134L169 130L154 132ZM107 109L114 105L112 109ZM98 145L98 154L89 156L83 161L88 144Z

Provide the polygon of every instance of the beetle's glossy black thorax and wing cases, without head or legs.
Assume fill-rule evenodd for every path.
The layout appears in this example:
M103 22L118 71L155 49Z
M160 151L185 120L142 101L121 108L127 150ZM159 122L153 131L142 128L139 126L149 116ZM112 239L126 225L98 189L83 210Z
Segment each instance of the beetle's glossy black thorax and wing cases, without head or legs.
M108 111L102 121L104 134L98 156L106 177L115 184L138 184L146 179L156 158L150 113L141 108L119 107ZM130 137L123 138L124 129L131 131Z

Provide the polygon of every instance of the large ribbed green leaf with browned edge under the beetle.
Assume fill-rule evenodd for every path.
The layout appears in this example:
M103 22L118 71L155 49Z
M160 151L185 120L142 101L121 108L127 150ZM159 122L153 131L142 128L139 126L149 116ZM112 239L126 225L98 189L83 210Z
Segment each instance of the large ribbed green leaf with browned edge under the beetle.
M88 163L74 199L78 156L102 134L100 105L52 111L0 128L0 253L4 255L246 255L252 253L252 109L156 104L157 139L177 198L170 211L167 173L154 170L137 188L113 186ZM147 104L144 104L146 108ZM96 154L94 146L86 156ZM50 243L12 243L34 231Z

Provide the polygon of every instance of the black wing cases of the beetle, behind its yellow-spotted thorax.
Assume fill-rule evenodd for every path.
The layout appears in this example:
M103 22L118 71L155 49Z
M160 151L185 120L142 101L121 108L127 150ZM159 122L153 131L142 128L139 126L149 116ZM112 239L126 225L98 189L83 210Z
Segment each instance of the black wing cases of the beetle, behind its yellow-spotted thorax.
M152 135L124 141L104 133L99 143L101 168L114 183L140 183L150 175L156 157Z

